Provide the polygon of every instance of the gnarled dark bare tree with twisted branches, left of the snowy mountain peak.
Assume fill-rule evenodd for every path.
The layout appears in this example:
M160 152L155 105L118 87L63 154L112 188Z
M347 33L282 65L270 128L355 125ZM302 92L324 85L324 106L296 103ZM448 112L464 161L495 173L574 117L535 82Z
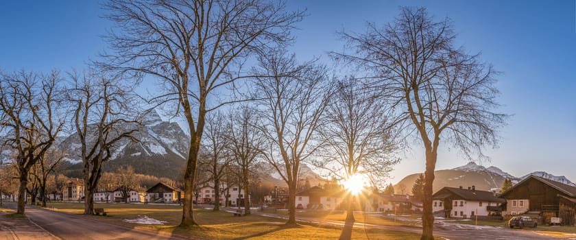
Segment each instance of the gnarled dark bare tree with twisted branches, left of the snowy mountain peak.
M74 111L73 130L78 136L84 179L84 214L92 215L102 165L120 141L137 141L139 111L132 82L90 71L71 75L68 99Z

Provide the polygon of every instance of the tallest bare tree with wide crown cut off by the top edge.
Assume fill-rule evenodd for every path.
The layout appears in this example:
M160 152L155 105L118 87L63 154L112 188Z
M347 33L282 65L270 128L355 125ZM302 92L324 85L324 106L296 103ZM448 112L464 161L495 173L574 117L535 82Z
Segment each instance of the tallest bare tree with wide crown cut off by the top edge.
M245 77L242 66L251 53L291 40L302 12L287 13L284 2L265 0L110 0L106 8L119 32L108 37L116 53L103 65L157 77L166 91L156 100L175 102L188 123L180 225L197 225L193 189L206 112L230 103L224 87Z

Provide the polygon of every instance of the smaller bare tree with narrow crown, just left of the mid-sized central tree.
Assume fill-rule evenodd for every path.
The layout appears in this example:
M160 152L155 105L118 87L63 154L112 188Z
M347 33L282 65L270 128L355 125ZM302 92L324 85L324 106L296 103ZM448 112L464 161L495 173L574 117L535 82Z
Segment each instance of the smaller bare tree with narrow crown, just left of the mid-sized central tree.
M254 110L243 106L241 110L230 115L228 141L230 154L235 159L241 187L244 189L244 214L250 215L250 187L254 170L252 169L263 152L264 141L258 128Z

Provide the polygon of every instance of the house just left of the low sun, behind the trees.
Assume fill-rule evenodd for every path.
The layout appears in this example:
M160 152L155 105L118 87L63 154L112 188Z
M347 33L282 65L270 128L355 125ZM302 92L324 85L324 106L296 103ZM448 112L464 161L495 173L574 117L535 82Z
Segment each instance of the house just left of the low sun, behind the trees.
M296 208L334 210L342 202L343 191L326 191L321 187L311 187L296 193Z

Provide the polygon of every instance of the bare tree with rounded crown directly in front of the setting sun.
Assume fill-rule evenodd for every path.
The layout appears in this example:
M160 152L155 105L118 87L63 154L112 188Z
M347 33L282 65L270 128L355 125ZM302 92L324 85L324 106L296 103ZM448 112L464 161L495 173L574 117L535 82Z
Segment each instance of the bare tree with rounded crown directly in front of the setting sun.
M359 80L350 77L339 81L318 128L324 144L315 165L339 181L366 178L381 187L392 165L398 163L392 157L396 137L386 112L383 101ZM348 221L354 221L354 200L350 191Z

